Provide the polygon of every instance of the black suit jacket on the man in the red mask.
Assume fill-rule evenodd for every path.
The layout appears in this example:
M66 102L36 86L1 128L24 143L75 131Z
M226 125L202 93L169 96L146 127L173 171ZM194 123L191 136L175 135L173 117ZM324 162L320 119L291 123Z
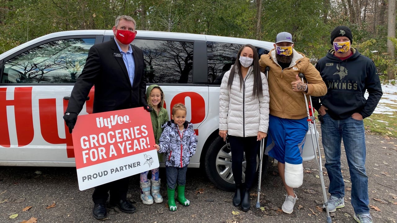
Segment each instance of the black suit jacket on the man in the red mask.
M95 44L88 52L83 71L73 87L66 112L79 113L95 85L93 112L108 112L146 104L145 62L142 50L131 44L135 61L133 86L114 39Z

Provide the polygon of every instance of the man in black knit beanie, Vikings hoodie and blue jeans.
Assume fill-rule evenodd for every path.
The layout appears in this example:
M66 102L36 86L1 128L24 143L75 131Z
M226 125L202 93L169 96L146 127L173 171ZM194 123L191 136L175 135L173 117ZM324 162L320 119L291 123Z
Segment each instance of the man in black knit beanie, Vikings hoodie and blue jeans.
M359 223L372 223L368 208L363 119L374 112L382 96L382 87L374 62L352 48L352 42L353 35L349 27L340 25L331 32L333 48L316 64L316 69L327 83L328 92L320 100L313 100L313 106L319 113L325 167L330 178L330 212L345 206L345 184L341 173L343 138L352 183L353 218ZM369 95L367 99L364 97L366 90Z

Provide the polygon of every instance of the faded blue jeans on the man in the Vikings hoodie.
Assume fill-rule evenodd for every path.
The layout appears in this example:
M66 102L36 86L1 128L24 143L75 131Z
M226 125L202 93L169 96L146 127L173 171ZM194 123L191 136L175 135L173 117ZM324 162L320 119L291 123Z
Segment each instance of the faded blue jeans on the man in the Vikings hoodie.
M335 120L328 114L325 114L323 119L321 136L326 158L325 167L330 178L328 192L337 198L345 196L345 184L341 173L341 140L343 139L352 184L351 204L356 214L369 213L364 121L352 117Z

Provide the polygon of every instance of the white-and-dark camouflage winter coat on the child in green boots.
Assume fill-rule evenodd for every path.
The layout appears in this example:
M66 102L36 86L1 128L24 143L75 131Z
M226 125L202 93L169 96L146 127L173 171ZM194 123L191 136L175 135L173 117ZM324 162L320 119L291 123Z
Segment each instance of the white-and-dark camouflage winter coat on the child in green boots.
M184 167L196 152L197 136L193 124L185 121L184 129L179 132L178 125L173 120L163 125L164 131L160 136L159 153L166 153L166 166Z

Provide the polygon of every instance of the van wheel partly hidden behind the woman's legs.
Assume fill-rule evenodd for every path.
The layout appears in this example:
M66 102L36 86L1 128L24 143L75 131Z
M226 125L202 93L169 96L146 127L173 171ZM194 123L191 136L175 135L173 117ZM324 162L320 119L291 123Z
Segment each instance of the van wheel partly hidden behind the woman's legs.
M259 154L258 154L259 155ZM256 158L256 169L259 169L259 157ZM262 178L266 174L268 168L268 156L264 155L262 163ZM205 156L205 171L208 179L218 188L226 191L233 191L235 189L233 172L231 170L231 151L223 139L218 136L210 144ZM246 160L245 154L243 158L243 176L242 180L245 181L245 167ZM257 175L259 171L256 171ZM258 177L256 177L257 179ZM255 181L257 183L257 181ZM252 187L254 187L252 185Z

